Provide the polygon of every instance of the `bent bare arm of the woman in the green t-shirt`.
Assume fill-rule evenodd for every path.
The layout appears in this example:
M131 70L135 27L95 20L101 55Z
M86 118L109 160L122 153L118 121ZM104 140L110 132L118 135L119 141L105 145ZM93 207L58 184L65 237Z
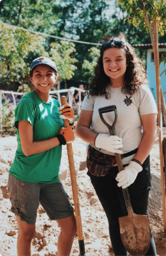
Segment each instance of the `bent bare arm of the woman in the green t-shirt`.
M19 121L18 129L22 152L26 157L33 154L39 154L60 144L57 137L33 142L33 127L28 121Z

